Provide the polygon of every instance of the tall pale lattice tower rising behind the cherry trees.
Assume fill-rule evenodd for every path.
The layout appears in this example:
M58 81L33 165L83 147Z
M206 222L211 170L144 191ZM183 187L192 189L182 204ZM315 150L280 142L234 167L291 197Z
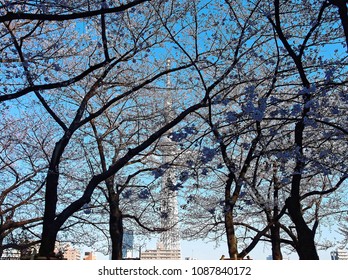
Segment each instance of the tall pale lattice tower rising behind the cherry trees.
M170 69L171 61L167 60L167 69ZM171 81L169 74L167 75L167 93L165 94L165 112L164 117L166 123L173 119L173 100L170 92ZM163 137L162 143L163 164L171 163L175 157L176 145L168 137ZM178 201L177 190L175 189L175 171L169 168L162 176L161 184L161 227L168 230L160 235L160 244L164 250L178 251L180 256L180 234L178 219Z

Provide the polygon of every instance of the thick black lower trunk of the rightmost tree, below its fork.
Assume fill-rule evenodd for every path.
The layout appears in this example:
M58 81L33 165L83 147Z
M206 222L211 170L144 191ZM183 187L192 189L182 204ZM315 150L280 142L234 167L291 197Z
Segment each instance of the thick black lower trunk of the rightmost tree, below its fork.
M319 260L314 242L314 233L303 219L300 202L293 197L289 197L286 200L286 206L289 210L291 220L295 224L298 238L296 251L300 260Z

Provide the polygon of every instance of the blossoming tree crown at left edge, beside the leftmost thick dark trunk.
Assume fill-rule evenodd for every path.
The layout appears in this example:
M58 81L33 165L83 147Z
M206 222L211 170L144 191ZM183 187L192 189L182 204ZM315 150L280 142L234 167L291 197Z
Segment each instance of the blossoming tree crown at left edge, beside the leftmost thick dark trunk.
M13 111L14 106L1 112L0 257L41 240L46 156L54 137L44 118Z

